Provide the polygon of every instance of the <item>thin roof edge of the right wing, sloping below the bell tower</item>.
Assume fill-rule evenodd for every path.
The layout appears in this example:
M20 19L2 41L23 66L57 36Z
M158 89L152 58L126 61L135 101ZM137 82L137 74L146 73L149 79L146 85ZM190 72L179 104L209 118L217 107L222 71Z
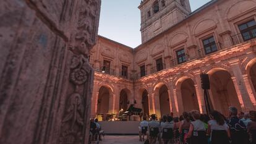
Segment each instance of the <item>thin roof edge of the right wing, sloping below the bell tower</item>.
M206 9L207 7L211 6L212 4L214 4L215 2L217 2L218 0L211 0L209 2L207 2L206 4L204 4L203 6L199 7L198 9L196 9L195 11L191 12L189 14L188 17L186 17L186 19L181 20L181 22L176 23L175 25L173 25L172 27L169 27L167 30L164 30L163 32L159 33L158 35L153 36L152 38L150 38L150 40L146 41L145 43L140 44L139 46L137 46L134 49L138 49L140 46L143 46L144 44L149 43L150 41L155 40L156 37L163 35L163 33L167 33L169 30L171 30L172 28L176 27L177 25L183 23L184 21L186 21L187 19L190 19L192 16L194 16L195 14L198 14L199 12L203 11L203 9Z

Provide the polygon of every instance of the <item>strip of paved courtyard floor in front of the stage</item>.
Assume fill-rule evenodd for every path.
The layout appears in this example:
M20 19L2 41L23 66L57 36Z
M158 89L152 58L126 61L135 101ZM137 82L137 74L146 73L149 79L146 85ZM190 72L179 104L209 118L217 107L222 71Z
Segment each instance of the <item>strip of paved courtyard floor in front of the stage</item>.
M130 136L130 135L105 135L103 141L100 144L143 144L143 142L139 142L139 135Z

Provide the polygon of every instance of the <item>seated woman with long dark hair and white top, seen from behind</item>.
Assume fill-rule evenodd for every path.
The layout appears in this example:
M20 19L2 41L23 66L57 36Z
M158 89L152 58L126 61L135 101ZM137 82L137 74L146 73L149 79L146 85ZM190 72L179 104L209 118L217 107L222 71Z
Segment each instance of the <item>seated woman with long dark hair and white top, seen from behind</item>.
M211 120L208 122L207 133L211 136L211 144L229 143L231 135L223 115L218 111L212 111L210 117Z

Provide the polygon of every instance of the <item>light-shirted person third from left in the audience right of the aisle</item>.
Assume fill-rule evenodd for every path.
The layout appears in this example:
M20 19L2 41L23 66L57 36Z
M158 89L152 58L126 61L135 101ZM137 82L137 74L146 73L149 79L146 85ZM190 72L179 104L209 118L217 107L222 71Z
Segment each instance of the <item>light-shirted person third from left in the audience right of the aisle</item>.
M166 122L161 123L161 137L164 142L164 144L168 144L168 142L172 142L174 138L174 122L173 117L168 116Z

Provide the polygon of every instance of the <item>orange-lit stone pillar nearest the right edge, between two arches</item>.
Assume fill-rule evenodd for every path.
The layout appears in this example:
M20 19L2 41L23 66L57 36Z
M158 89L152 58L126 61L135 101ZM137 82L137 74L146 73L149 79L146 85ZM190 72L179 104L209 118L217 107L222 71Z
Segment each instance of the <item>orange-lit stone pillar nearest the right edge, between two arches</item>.
M247 74L243 75L243 78L244 78L245 87L250 96L250 100L252 101L252 104L254 104L254 108L256 108L256 102L255 102L256 92L254 90L254 85L252 84L252 81L250 80Z

